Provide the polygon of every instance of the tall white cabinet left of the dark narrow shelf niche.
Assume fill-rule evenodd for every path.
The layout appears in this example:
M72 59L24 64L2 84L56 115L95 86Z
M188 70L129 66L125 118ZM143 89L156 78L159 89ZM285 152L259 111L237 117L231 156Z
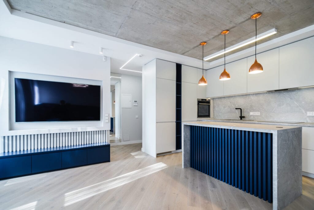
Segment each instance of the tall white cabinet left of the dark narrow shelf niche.
M154 59L143 66L143 150L176 150L176 63Z

